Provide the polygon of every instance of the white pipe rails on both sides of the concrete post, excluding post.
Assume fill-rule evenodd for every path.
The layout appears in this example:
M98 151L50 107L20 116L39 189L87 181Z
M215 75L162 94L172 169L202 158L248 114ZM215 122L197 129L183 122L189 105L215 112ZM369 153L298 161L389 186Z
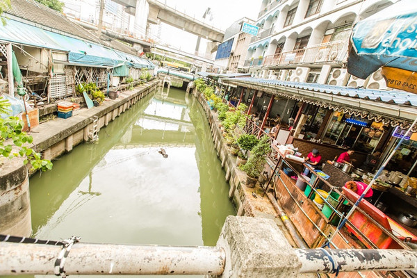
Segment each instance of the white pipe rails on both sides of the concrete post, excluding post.
M62 273L57 273L55 265L61 248L0 243L0 275L222 275L225 258L234 256L227 256L219 247L76 243L61 265ZM417 251L318 248L294 249L293 252L298 258L294 264L300 263L298 268L294 265L298 273L417 270ZM239 272L234 265L231 268ZM230 277L230 274L223 275Z

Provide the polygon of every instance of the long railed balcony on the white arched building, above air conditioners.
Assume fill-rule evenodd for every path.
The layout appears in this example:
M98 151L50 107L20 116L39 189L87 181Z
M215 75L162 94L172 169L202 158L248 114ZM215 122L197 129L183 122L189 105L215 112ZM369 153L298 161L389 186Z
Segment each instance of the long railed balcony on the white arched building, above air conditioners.
M347 43L341 41L327 42L305 49L266 56L263 66L338 63L345 60L345 58L347 58Z

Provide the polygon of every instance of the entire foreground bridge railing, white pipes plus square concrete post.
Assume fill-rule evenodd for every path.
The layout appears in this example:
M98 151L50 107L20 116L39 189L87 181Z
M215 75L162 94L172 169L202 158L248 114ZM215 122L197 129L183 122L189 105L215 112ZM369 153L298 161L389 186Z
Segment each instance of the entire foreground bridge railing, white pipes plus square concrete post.
M302 273L417 269L417 251L294 249L277 224L266 218L229 216L216 247L72 243L1 242L0 275L287 278Z

